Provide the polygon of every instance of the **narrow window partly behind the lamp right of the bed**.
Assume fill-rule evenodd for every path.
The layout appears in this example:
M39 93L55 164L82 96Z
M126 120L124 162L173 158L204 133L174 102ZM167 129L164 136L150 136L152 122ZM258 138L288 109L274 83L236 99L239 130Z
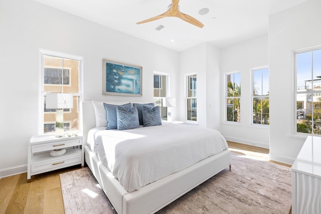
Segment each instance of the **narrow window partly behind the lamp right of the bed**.
M163 98L168 97L168 75L154 74L154 102L161 110L162 120L167 120L167 107L163 106Z

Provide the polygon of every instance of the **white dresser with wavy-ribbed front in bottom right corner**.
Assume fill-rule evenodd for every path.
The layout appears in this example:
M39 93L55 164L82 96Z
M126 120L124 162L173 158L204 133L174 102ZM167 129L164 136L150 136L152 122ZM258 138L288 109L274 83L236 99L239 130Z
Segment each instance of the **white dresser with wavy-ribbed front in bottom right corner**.
M321 137L306 138L291 170L292 213L321 213Z

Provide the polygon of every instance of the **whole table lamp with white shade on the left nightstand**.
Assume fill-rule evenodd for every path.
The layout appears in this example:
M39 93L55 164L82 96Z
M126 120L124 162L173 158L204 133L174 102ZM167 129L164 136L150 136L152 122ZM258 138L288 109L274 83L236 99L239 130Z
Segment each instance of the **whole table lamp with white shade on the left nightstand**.
M46 108L57 109L56 137L62 137L64 131L64 108L73 108L73 95L67 93L47 93Z

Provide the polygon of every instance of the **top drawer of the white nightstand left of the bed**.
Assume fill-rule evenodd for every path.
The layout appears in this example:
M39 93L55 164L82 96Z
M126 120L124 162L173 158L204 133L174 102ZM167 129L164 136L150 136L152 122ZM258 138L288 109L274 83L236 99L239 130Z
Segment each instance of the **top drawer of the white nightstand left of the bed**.
M70 139L70 140L61 140L52 143L42 143L31 146L31 152L41 152L41 151L49 151L54 149L61 149L70 146L80 146L82 144L81 139Z

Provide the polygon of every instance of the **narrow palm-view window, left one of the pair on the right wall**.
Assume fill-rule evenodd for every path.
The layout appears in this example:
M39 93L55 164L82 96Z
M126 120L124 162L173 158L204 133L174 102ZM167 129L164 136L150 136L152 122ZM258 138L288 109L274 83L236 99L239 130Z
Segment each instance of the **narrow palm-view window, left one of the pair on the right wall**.
M226 121L240 122L241 73L226 75Z

